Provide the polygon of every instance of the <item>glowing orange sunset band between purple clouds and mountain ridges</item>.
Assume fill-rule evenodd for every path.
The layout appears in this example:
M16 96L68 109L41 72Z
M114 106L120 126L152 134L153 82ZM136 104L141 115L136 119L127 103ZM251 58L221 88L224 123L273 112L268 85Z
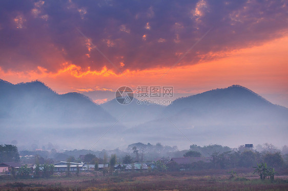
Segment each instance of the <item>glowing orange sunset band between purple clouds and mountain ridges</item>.
M185 64L174 67L167 76L161 76L169 67L157 67L143 70L123 70L116 74L113 69L104 66L101 70L82 68L68 62L59 65L53 73L42 66L35 70L13 71L0 70L4 80L19 83L40 80L58 92L89 92L95 87L101 91L115 91L122 84L136 87L139 84L173 85L178 93L200 93L202 91L241 84L254 89L264 98L272 99L276 104L288 105L288 37L278 38L259 46L232 52L209 53L225 55L219 59L197 64ZM209 54L207 56L209 56ZM109 64L109 63L108 63ZM171 63L172 64L172 63ZM121 64L124 66L124 63ZM147 78L149 76L149 78ZM62 83L58 83L61 81ZM100 82L100 83L99 83ZM98 89L99 90L99 89ZM270 92L275 92L271 96ZM100 102L108 101L103 99ZM98 103L100 103L98 102Z

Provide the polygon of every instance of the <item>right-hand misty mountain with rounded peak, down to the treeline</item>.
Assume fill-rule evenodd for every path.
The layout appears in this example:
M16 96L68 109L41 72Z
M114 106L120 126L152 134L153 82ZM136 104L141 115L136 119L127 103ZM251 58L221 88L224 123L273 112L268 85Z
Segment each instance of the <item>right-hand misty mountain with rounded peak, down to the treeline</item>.
M233 85L177 99L163 110L161 117L126 133L137 141L145 137L146 141L157 139L164 144L283 143L288 133L288 109Z

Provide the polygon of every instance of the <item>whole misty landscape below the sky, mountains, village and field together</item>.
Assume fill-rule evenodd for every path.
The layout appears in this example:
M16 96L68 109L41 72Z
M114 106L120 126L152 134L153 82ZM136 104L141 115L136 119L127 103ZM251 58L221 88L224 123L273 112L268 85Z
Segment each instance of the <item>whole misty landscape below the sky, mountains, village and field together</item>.
M278 175L288 173L288 109L240 85L168 106L97 105L39 81L0 89L1 189L182 190L215 178L208 189L287 186Z

